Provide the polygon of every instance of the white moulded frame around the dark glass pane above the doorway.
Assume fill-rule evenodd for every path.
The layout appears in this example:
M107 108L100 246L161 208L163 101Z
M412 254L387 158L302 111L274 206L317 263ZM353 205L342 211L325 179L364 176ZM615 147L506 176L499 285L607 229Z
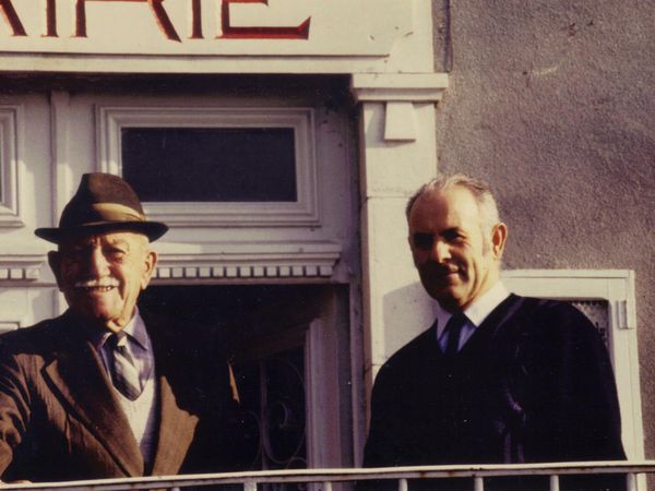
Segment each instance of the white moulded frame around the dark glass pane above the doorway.
M122 176L126 128L291 128L296 155L295 202L145 202L153 220L172 227L318 227L314 112L295 107L98 106L98 163Z

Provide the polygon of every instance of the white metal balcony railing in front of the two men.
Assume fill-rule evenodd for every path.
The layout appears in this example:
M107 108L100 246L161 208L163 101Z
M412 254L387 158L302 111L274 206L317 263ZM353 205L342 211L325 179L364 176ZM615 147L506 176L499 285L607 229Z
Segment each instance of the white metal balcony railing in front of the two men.
M170 491L179 491L191 487L198 489L199 487L231 484L230 489L257 491L258 484L313 483L319 484L321 491L332 491L333 484L335 483L374 479L396 481L398 491L407 491L407 481L410 479L468 478L473 480L475 491L484 491L485 479L487 478L508 476L549 476L550 491L559 491L560 476L623 474L626 475L628 491L634 491L638 489L638 482L640 481L641 476L654 472L655 460L602 463L590 462L562 464L388 467L370 469L262 470L229 474L99 479L57 483L13 483L2 484L1 489L52 491L122 491L140 489L167 489Z

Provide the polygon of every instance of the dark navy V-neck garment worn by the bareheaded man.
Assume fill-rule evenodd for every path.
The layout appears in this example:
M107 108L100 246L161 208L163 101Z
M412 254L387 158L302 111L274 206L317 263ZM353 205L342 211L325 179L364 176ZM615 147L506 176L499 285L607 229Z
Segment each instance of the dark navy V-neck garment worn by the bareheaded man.
M432 328L381 368L365 466L624 458L607 350L577 309L512 295L446 358Z

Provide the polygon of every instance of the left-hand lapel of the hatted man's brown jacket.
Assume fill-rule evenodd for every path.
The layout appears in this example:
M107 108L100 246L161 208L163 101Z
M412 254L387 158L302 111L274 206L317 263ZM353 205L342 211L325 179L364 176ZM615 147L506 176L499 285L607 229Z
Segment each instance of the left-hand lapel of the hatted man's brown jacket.
M70 316L59 318L66 338L45 367L45 376L80 421L103 444L127 476L143 476L143 456L110 387L99 356ZM66 331L66 333L63 333Z

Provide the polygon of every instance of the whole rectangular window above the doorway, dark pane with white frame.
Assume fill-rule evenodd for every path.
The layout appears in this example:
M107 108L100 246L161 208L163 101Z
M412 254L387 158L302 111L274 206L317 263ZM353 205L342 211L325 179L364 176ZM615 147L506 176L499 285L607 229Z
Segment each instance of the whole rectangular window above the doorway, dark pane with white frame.
M310 108L97 109L100 170L171 226L320 225Z

